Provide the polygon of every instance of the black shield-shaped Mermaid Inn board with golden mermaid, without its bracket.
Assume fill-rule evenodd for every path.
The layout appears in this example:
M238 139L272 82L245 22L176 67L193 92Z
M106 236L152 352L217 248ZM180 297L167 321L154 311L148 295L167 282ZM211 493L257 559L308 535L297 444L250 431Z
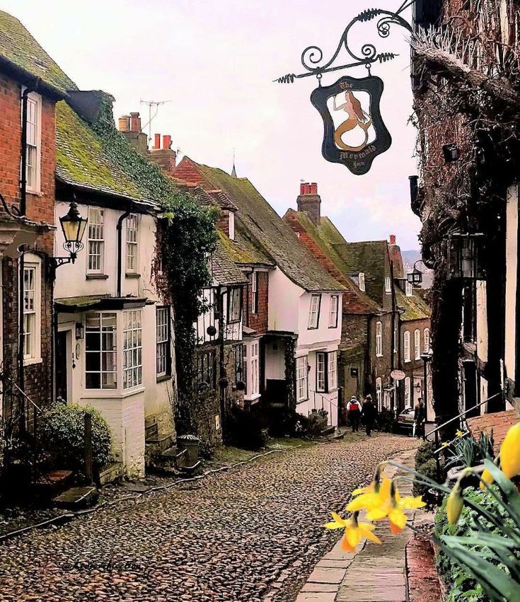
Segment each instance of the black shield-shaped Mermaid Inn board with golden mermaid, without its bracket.
M323 119L321 151L327 161L363 175L390 148L392 137L379 108L382 93L383 80L374 76L344 76L313 91L311 103Z

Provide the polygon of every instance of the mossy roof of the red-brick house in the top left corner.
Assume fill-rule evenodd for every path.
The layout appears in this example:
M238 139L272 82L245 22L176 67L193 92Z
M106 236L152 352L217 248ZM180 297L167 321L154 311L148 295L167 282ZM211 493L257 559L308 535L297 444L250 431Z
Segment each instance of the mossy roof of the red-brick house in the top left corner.
M59 93L77 89L20 21L4 11L0 11L0 57Z

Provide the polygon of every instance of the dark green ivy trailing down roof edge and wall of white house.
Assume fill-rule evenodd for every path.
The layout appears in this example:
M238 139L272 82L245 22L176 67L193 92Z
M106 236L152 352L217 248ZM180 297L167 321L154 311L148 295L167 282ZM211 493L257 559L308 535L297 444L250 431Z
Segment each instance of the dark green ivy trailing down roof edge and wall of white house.
M202 289L211 282L207 257L216 245L216 208L202 207L178 190L161 168L132 149L115 128L112 100L110 95L103 97L93 129L106 154L143 189L144 199L163 209L163 218L158 220L153 272L159 293L171 303L175 323L175 425L179 433L196 433L194 324L204 310Z

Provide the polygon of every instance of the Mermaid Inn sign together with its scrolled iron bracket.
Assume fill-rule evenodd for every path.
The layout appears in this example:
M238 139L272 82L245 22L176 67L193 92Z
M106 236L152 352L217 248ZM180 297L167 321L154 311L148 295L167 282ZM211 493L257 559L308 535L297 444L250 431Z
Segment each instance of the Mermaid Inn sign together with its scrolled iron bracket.
M380 103L383 81L371 75L371 65L394 59L393 52L378 52L371 42L365 42L361 50L349 45L349 32L354 25L371 21L376 24L379 37L390 35L391 25L400 25L413 33L408 21L400 15L412 4L405 0L397 11L369 8L350 21L337 48L328 61L323 61L323 51L318 46L308 46L301 53L301 64L306 73L287 74L279 77L279 83L293 83L295 79L316 76L318 88L311 94L311 103L323 119L323 144L321 151L327 161L342 163L356 175L367 173L374 158L387 151L392 137L381 117ZM351 62L334 66L340 52L345 50ZM364 66L368 77L356 79L344 76L332 86L322 86L323 74L340 69Z

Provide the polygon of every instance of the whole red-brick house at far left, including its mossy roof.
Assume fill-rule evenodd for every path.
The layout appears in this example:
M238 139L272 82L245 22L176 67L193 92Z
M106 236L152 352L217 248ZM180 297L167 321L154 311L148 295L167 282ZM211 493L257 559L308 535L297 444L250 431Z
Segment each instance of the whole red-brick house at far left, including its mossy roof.
M74 83L16 18L0 26L2 413L32 431L52 397L55 106Z

